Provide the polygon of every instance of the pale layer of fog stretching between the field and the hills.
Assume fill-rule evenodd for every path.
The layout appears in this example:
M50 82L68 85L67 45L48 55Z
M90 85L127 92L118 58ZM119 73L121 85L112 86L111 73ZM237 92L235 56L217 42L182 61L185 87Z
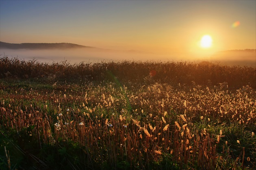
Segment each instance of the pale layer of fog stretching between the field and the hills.
M189 54L153 54L138 51L117 51L106 49L0 49L0 58L8 56L8 58L19 58L21 60L37 60L38 62L63 62L70 64L80 62L109 62L109 61L152 61L152 62L202 62L208 61L223 65L240 65L256 67L255 54L243 56L242 54L216 54L213 56L196 57ZM242 56L242 57L241 57Z

